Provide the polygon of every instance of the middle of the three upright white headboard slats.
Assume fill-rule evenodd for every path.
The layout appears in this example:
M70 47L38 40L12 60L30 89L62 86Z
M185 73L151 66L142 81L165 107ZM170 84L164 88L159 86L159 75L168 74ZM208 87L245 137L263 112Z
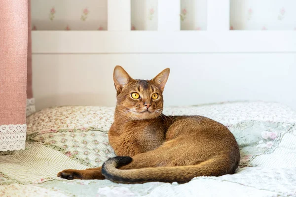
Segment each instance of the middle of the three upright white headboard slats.
M180 0L158 0L158 31L180 31Z

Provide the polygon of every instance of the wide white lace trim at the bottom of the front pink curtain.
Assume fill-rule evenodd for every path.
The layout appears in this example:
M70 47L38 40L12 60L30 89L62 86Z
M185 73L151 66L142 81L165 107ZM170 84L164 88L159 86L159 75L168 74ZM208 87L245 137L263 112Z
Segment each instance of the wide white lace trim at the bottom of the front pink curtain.
M0 151L25 149L27 125L0 125Z

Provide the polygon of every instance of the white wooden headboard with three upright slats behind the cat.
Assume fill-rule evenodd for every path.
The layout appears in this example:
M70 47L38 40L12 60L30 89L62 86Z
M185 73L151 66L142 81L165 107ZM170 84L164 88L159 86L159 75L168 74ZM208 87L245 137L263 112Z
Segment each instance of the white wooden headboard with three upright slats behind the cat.
M180 0L159 0L158 12L158 31L130 31L130 1L108 0L108 31L33 31L37 110L114 106L116 65L139 79L170 67L167 106L266 100L296 109L295 31L229 31L229 0L208 0L207 31L180 31Z

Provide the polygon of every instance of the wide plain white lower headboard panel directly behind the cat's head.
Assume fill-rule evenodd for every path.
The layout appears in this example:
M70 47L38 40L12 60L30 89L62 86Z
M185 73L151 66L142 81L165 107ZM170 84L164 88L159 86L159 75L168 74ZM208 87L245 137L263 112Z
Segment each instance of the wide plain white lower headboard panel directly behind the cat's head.
M33 54L32 58L37 110L56 105L114 106L115 65L135 79L151 79L170 67L165 106L270 100L296 109L296 53ZM184 99L182 93L190 96Z

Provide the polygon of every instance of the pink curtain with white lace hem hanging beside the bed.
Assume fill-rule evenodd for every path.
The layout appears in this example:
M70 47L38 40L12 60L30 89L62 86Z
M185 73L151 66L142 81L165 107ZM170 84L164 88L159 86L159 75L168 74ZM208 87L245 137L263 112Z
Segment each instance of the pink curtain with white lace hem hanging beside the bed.
M27 97L32 98L30 17L30 1L0 0L0 151L25 148Z

